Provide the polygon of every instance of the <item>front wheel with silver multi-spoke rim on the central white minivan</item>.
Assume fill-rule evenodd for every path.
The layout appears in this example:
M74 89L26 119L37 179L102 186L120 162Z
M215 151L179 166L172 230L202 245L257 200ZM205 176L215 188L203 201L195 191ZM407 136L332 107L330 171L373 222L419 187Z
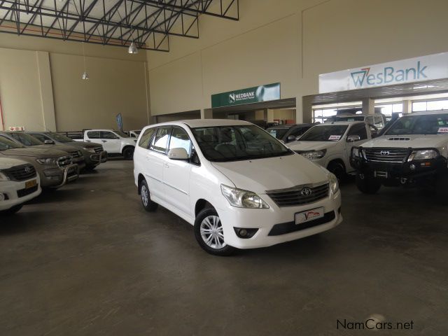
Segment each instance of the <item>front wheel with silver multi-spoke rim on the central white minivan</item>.
M235 248L225 244L221 219L214 208L200 211L195 220L195 237L202 249L213 255L231 255Z

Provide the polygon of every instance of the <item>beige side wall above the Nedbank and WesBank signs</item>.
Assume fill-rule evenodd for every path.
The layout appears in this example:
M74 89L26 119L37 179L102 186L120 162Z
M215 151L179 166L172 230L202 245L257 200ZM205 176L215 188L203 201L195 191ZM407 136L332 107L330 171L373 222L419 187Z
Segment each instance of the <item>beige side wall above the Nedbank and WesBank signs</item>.
M320 73L448 51L446 0L239 4L239 22L202 15L199 39L171 38L169 54L148 52L153 114L207 109L211 94L280 82L300 121Z

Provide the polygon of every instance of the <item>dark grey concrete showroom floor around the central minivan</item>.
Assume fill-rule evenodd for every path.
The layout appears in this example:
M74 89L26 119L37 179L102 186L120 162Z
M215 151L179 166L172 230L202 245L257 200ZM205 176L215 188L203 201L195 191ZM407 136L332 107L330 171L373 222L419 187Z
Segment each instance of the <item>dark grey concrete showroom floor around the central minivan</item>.
M342 193L334 230L219 258L109 161L0 218L0 335L364 335L337 320L372 314L414 323L378 335L447 335L447 207Z

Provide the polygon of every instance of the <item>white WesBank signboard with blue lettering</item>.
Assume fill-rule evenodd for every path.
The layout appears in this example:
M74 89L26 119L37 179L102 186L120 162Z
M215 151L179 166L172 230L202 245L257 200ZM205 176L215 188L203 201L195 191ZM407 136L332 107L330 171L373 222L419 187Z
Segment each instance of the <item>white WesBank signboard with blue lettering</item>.
M319 75L319 93L448 78L448 52Z

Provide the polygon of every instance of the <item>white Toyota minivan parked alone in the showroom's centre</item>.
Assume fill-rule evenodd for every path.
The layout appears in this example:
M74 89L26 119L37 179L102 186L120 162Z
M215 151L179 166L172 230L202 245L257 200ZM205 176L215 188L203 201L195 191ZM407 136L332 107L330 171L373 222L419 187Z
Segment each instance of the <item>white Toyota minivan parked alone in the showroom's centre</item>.
M160 204L185 219L216 255L316 235L342 221L335 175L244 121L145 127L134 179L147 211Z

